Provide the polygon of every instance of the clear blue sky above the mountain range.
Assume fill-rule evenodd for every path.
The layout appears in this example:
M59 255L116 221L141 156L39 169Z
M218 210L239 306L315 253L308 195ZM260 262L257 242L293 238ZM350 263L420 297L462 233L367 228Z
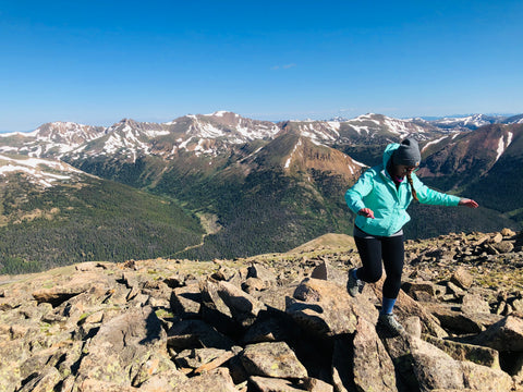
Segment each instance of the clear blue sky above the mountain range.
M523 112L523 1L0 0L0 131Z

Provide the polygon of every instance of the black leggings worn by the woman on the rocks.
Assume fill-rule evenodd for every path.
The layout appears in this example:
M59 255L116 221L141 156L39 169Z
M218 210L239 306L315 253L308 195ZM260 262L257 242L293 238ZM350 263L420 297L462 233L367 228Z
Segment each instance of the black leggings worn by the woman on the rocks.
M384 297L394 299L401 287L404 245L403 235L354 237L363 267L356 271L357 279L374 283L381 278L381 258L387 278L384 283Z

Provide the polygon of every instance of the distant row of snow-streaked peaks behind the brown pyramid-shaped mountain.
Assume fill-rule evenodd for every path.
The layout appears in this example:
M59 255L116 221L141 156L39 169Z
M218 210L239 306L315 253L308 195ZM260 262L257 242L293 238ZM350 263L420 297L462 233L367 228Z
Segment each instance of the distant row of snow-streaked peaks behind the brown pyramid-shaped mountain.
M68 161L95 156L118 156L135 161L139 156L170 159L179 154L218 156L255 140L271 140L280 133L294 132L316 144L388 143L406 135L434 137L429 124L398 120L381 114L360 115L349 121L288 121L275 124L218 111L187 114L166 123L130 119L109 126L71 122L44 124L31 133L0 135L0 152Z

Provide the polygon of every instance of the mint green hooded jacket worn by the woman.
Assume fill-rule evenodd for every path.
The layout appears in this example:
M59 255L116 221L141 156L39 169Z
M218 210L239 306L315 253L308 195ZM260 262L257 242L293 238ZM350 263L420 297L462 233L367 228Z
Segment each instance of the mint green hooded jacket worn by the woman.
M411 220L406 208L413 197L409 182L403 181L397 189L387 172L387 163L398 143L389 144L384 152L382 164L368 169L345 193L349 208L356 213L355 224L372 235L389 236L399 232ZM412 181L419 203L438 206L458 206L460 197L436 192L425 186L412 173ZM370 208L375 219L358 216L362 208Z

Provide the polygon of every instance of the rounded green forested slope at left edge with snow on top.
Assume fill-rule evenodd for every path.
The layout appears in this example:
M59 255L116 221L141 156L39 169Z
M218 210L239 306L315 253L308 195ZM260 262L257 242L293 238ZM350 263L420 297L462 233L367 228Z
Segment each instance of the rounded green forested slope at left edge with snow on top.
M61 162L0 158L0 273L168 256L204 234L172 200Z

